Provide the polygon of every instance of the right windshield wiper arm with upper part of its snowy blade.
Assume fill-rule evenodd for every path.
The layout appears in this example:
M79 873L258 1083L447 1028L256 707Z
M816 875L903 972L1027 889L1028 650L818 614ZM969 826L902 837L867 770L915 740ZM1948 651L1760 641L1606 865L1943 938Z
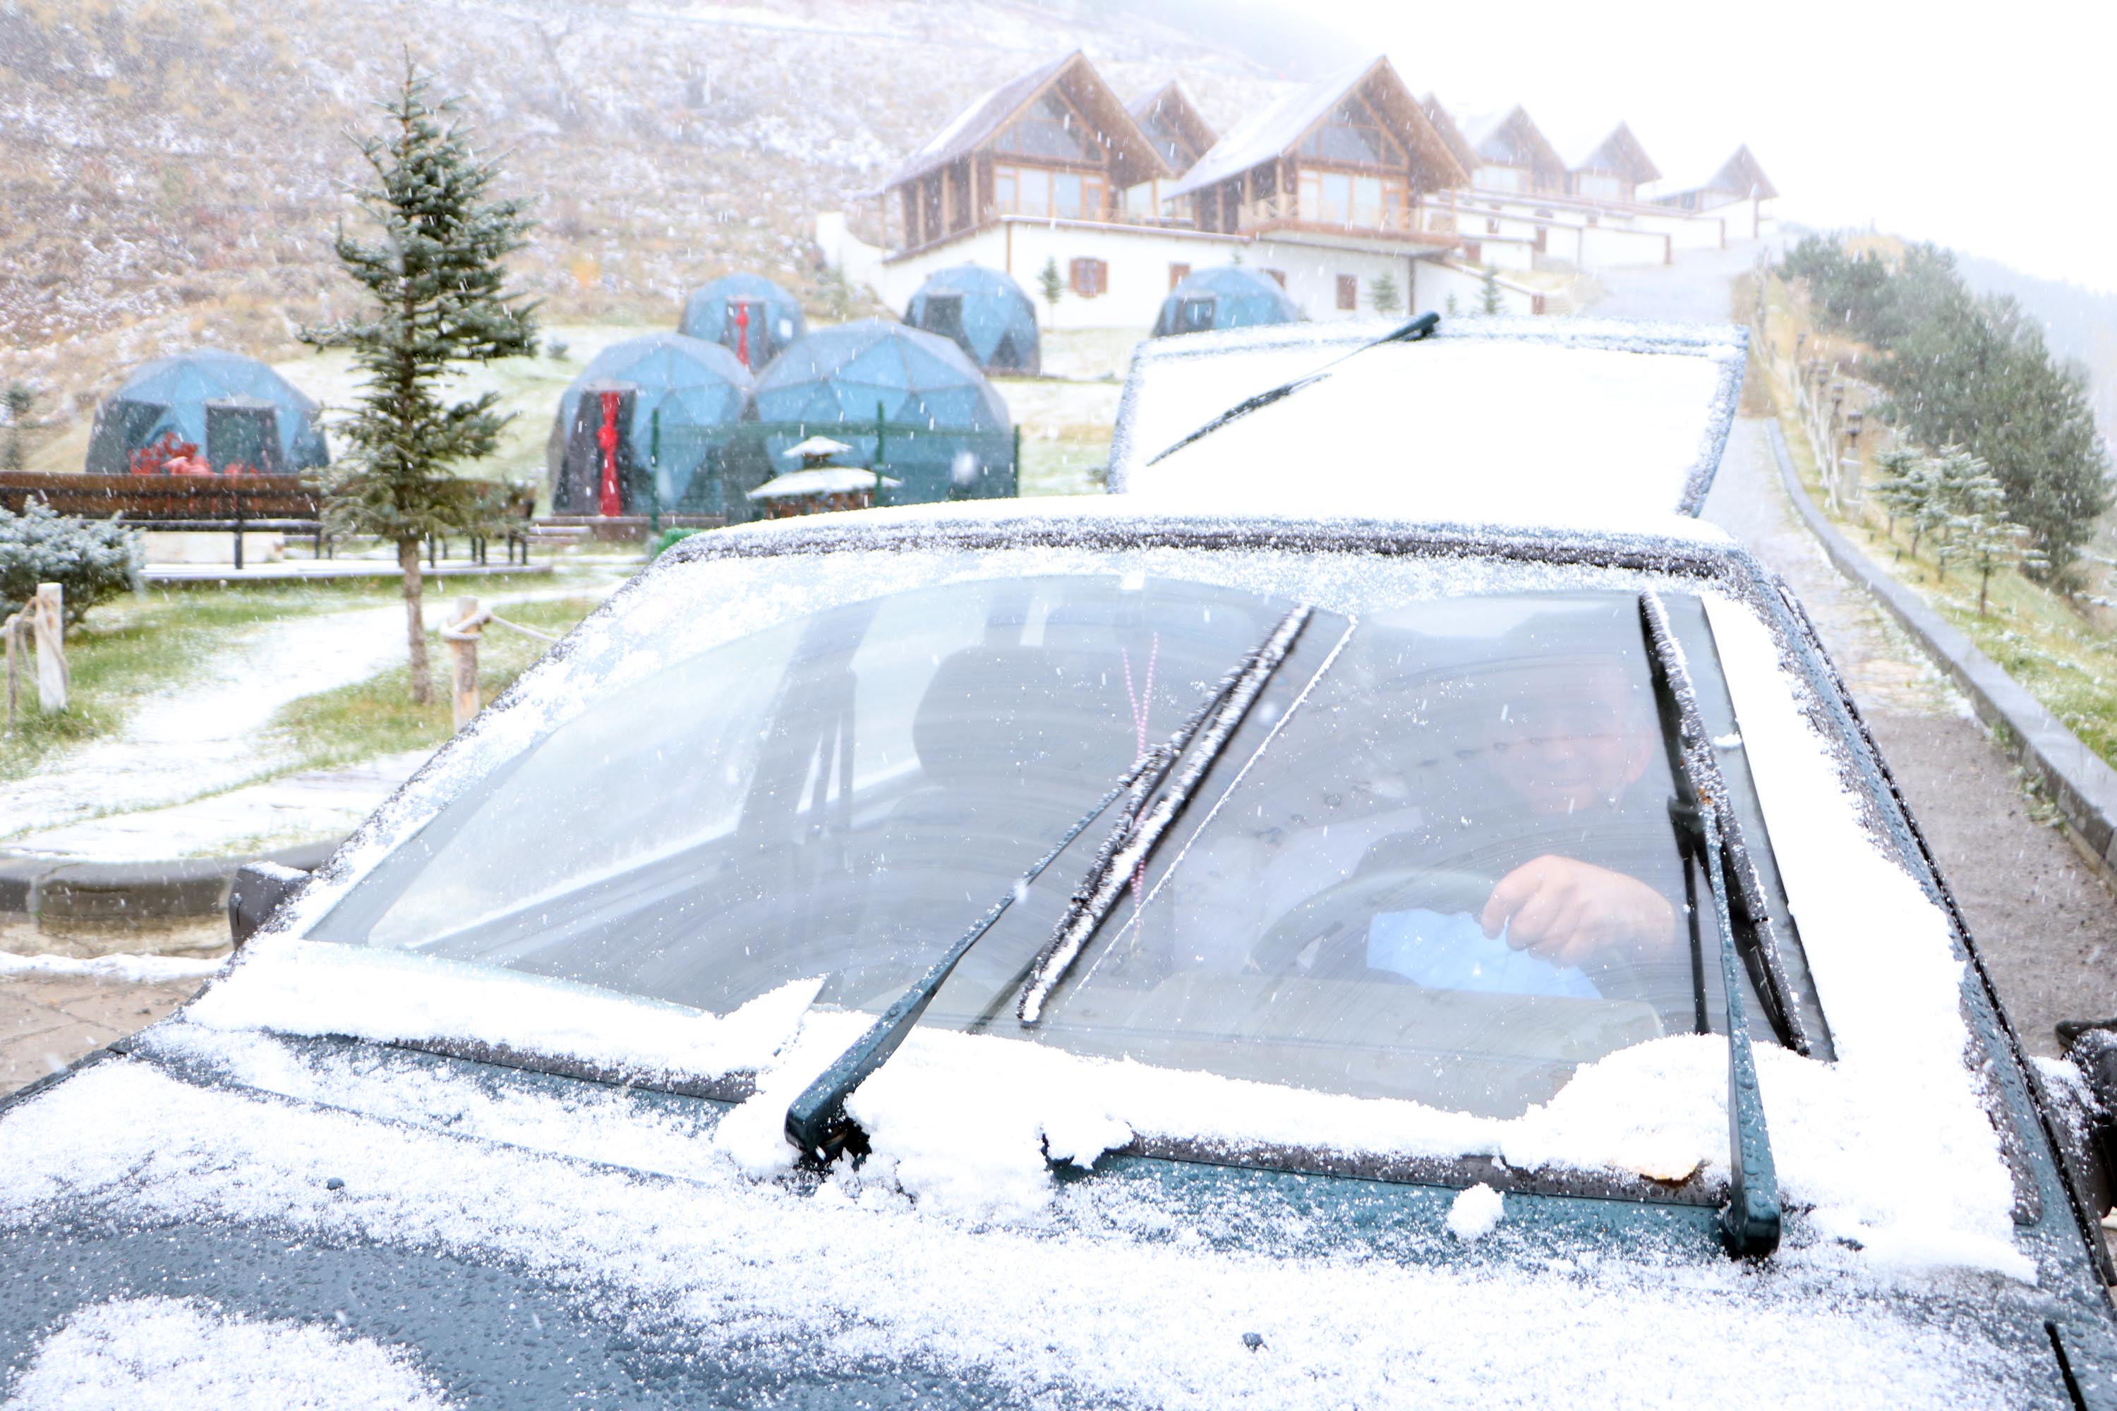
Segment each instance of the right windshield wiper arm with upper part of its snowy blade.
M1727 783L1706 738L1698 713L1698 692L1683 660L1683 645L1668 626L1668 609L1653 592L1639 594L1639 620L1647 637L1647 658L1653 664L1653 700L1662 715L1662 740L1668 747L1668 772L1677 798L1668 814L1677 825L1677 846L1683 850L1683 886L1691 895L1691 975L1696 984L1698 1024L1704 1032L1704 954L1698 935L1694 867L1704 872L1713 895L1713 918L1719 933L1721 988L1727 992L1727 1206L1721 1210L1721 1233L1736 1254L1770 1254L1778 1248L1778 1168L1772 1159L1772 1134L1763 1121L1763 1098L1757 1094L1757 1056L1749 1043L1749 1015L1742 1001L1742 958L1734 946L1734 908L1727 901L1727 869L1721 846L1721 819L1727 810Z

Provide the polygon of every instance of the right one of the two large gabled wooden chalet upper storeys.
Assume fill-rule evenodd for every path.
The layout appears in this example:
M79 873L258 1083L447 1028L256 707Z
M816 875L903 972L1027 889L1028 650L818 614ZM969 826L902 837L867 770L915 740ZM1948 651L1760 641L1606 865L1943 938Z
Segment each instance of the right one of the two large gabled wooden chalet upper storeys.
M1257 112L1183 173L1200 231L1317 231L1452 243L1421 231L1418 203L1469 182L1389 59L1298 89Z

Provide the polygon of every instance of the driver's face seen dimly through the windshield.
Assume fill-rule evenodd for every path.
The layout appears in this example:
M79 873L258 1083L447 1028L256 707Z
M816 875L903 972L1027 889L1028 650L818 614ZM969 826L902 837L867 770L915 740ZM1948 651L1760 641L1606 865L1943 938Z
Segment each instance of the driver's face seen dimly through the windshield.
M1653 721L1617 662L1581 662L1509 692L1492 728L1492 770L1537 817L1615 808L1658 749Z

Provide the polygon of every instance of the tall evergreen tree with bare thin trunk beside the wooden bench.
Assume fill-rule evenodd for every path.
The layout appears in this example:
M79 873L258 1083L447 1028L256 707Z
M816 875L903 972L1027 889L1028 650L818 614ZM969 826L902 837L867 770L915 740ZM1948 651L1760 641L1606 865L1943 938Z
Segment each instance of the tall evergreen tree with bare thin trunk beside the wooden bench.
M451 404L442 389L457 364L536 353L536 305L508 294L502 269L529 231L525 203L489 199L500 167L476 159L457 108L430 99L430 78L406 57L402 87L381 104L383 135L360 142L375 184L356 199L381 237L337 237L339 262L375 307L301 334L351 349L366 374L345 423L354 453L326 478L324 512L341 533L396 544L419 704L432 698L419 544L476 533L495 514L453 468L491 455L508 421L493 391Z

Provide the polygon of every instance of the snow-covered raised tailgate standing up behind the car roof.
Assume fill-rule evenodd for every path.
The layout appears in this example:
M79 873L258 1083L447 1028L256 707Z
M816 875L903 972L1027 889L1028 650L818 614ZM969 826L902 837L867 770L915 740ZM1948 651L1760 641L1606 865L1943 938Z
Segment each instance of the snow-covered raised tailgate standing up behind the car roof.
M1444 317L1418 343L1357 351L1399 326L1143 343L1118 410L1111 491L1215 510L1603 529L1698 512L1734 421L1744 330ZM1236 402L1323 368L1317 383L1177 448Z

